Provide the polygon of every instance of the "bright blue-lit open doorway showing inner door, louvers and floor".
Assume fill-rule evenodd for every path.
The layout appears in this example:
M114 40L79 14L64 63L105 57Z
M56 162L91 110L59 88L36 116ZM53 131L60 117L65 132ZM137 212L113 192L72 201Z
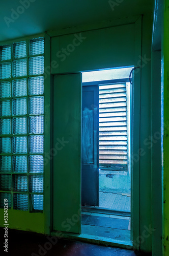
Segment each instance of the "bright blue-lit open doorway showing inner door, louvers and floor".
M130 237L131 69L82 73L82 233Z

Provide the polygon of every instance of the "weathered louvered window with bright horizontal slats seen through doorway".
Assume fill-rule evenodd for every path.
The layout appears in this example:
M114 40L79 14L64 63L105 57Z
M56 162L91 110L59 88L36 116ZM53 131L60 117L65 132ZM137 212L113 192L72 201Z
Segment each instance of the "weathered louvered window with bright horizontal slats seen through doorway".
M99 86L99 167L127 170L126 83Z

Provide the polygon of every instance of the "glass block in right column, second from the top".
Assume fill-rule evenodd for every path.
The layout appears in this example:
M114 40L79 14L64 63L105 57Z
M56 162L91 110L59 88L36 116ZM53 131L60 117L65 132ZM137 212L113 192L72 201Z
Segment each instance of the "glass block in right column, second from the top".
M44 56L29 59L29 75L41 75L44 73Z

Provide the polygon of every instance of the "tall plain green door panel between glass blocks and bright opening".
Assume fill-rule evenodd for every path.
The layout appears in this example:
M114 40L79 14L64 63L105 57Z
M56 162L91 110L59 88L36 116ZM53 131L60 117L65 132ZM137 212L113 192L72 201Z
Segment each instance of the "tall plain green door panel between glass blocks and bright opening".
M81 233L81 73L53 80L53 230Z

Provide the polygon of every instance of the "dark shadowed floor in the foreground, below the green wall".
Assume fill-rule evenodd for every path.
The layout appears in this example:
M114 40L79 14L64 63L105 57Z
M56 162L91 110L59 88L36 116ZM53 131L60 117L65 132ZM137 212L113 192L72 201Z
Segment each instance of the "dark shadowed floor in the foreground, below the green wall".
M8 256L135 256L133 251L112 248L108 246L99 246L94 244L68 241L59 239L53 244L49 242L50 238L41 234L23 232L18 230L9 231L9 250L8 253L3 251L4 230L1 234L1 252L0 255ZM147 255L147 254L139 254Z

